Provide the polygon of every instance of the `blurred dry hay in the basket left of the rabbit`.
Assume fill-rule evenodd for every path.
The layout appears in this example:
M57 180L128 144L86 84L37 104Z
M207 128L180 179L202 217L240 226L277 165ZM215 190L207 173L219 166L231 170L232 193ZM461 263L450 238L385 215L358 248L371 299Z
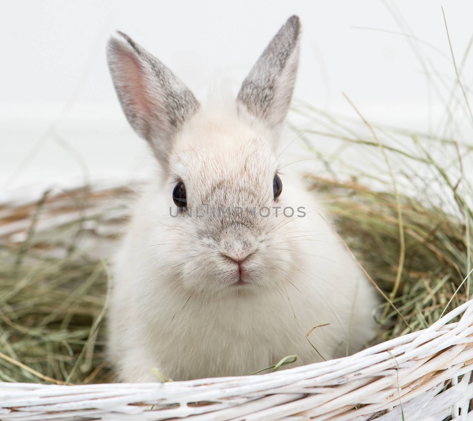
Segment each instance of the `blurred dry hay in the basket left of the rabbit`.
M125 221L121 200L129 194L122 188L50 191L37 202L0 207L1 380L110 380L107 267L97 256L110 255Z

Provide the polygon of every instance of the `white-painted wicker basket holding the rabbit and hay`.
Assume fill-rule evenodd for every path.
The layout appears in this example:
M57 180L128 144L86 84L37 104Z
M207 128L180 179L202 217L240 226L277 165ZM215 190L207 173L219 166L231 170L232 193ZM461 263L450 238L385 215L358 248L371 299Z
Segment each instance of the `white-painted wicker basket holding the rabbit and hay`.
M56 201L64 206L64 196ZM88 206L98 204L103 211L103 201ZM29 205L22 206L27 219ZM5 209L4 220L11 221ZM63 209L57 223L69 219ZM0 240L21 237L24 222L4 224ZM473 420L472 342L469 301L427 329L270 374L148 384L0 383L0 420Z

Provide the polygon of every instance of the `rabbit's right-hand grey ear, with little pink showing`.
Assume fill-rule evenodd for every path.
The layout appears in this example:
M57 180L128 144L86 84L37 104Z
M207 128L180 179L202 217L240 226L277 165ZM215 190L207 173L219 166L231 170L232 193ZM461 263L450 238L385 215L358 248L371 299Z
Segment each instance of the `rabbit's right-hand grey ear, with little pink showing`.
M299 60L297 16L289 17L243 81L237 102L275 132L289 110Z

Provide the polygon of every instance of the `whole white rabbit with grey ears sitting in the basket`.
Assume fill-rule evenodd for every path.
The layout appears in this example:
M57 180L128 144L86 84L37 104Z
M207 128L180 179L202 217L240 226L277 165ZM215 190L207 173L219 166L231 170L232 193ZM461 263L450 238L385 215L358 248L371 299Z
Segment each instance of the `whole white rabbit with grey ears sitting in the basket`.
M280 168L299 35L290 17L236 100L213 108L128 35L110 38L118 99L161 171L114 259L107 349L119 381L247 375L297 355L291 368L373 337L374 288L323 200Z

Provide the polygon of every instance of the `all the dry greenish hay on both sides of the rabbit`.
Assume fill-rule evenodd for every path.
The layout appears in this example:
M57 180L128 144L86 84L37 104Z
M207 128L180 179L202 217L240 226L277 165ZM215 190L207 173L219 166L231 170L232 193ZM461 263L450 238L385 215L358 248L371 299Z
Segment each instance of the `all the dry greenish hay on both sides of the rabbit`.
M327 118L305 103L297 112ZM330 118L323 131L293 129L315 156L307 180L409 325L383 304L376 312L379 342L430 326L473 291L473 195L463 169L472 147L353 126ZM323 138L330 150L316 148ZM358 166L345 157L353 146L365 158ZM111 381L104 354L107 261L130 197L128 188L85 187L0 207L1 381Z

